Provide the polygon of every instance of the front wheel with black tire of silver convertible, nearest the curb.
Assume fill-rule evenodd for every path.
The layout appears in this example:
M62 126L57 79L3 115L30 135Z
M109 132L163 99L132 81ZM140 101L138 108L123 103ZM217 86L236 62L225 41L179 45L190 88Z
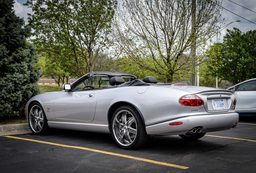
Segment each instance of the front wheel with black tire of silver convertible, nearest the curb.
M43 135L49 131L50 127L47 123L47 118L43 107L39 103L33 103L29 110L29 127L36 135Z

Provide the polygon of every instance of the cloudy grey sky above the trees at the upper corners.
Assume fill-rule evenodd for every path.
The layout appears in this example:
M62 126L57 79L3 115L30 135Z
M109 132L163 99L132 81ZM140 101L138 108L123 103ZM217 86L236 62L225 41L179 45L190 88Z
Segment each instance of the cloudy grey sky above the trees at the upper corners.
M27 8L27 6L23 6L23 4L27 2L27 0L14 0L14 2L15 14L21 18L24 18L26 24L28 24L27 13L32 13L32 10L30 8ZM118 0L118 2L120 3L122 2L122 0ZM233 2L236 4L234 4ZM239 4L240 6L237 4ZM233 27L235 27L239 28L239 30L241 30L243 33L249 30L256 30L256 0L223 0L221 6L223 7L222 18L224 18L225 24L229 24L230 22L236 20L241 20L241 22L233 22L229 24L225 29L221 30L221 36L219 37L220 42L222 42L223 36L225 36L225 34L227 33L226 29L232 30ZM225 10L224 8L243 18ZM217 38L213 38L213 41L217 41Z

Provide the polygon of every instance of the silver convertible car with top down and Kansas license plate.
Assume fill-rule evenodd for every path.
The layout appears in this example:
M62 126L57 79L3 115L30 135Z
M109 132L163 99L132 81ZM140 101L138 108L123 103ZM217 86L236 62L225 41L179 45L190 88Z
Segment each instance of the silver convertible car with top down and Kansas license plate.
M50 128L111 133L117 145L134 149L148 135L180 135L195 140L236 127L232 91L194 87L190 82L157 83L121 72L90 72L63 91L31 98L25 114L31 131Z

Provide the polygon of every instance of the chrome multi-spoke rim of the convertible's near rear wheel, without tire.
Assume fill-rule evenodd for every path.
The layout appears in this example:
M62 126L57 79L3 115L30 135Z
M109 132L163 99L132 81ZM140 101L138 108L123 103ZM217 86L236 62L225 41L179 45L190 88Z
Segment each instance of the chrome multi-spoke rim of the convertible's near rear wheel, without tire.
M121 110L116 113L112 124L112 131L120 145L131 145L137 135L137 124L134 115L127 110Z

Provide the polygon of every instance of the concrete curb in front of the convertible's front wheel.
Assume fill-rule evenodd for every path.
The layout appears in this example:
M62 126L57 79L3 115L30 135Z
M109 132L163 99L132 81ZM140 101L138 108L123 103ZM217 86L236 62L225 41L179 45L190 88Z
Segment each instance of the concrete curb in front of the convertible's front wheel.
M4 135L18 135L32 133L29 128L29 123L0 125L0 136Z

